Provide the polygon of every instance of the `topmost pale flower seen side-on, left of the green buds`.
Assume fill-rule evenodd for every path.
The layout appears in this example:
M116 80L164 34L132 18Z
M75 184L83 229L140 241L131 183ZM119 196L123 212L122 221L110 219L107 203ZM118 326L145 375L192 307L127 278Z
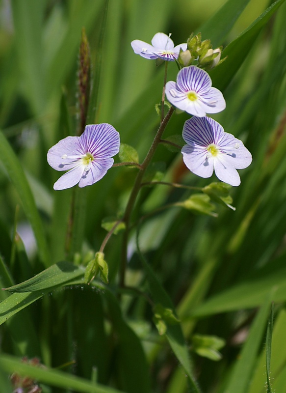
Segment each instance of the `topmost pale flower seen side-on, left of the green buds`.
M179 56L180 49L182 48L183 51L187 49L187 44L180 44L174 48L174 42L170 36L171 34L156 33L152 38L152 45L144 41L134 40L131 42L131 47L137 55L145 58L155 59L159 57L163 60L175 61Z

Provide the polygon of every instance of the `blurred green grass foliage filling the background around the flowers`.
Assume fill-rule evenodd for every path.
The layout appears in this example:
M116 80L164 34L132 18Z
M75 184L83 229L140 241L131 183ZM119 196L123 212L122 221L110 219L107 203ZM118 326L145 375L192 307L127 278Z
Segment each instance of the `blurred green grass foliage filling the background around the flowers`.
M285 392L286 4L261 4L1 2L0 393L13 373L44 393ZM189 116L171 117L164 66L130 46L158 31L223 47L213 117L252 152L239 187L183 165ZM92 186L54 191L47 152L82 132L87 102L85 123L112 124L119 155Z

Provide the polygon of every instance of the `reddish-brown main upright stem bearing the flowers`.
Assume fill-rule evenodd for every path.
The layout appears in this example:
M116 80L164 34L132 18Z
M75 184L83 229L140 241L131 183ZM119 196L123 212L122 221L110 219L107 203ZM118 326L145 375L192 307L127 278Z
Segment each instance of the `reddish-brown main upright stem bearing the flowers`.
M160 127L158 128L157 134L155 139L153 140L153 143L143 161L141 164L141 168L137 173L137 176L135 178L134 186L133 189L130 193L130 197L125 209L125 214L122 219L122 221L126 225L126 229L123 235L123 241L122 241L122 253L121 253L121 270L120 270L120 286L123 288L125 286L124 281L125 281L125 271L126 271L126 264L127 264L127 245L128 245L128 235L129 235L129 229L130 229L130 216L132 213L132 209L134 207L136 197L140 191L141 188L141 182L145 173L146 168L150 164L154 153L156 151L156 148L158 144L160 143L161 136L163 135L163 132L174 112L174 108L170 108L169 111L167 112L166 116L164 119L161 121Z

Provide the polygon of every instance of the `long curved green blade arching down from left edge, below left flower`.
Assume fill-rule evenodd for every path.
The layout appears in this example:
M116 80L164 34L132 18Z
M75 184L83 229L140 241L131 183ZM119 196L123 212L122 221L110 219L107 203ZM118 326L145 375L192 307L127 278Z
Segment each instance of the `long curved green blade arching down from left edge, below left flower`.
M0 161L6 169L15 189L19 193L23 208L28 221L30 222L38 245L38 252L45 267L50 266L50 253L46 242L46 237L35 204L34 196L31 193L25 172L14 153L10 144L0 132Z

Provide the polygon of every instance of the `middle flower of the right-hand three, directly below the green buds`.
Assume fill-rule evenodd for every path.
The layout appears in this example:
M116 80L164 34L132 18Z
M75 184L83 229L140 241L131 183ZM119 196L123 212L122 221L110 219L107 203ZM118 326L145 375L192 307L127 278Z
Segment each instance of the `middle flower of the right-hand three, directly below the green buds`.
M177 83L167 82L165 92L171 104L194 116L221 112L226 107L222 93L211 87L208 73L195 65L182 68Z

